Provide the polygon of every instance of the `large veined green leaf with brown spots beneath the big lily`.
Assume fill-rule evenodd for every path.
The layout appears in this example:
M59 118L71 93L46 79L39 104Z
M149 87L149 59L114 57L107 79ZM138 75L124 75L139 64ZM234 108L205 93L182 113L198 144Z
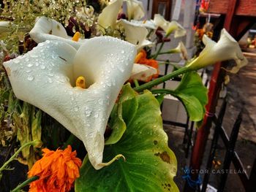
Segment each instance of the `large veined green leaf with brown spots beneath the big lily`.
M103 162L118 154L124 155L126 161L119 159L95 170L85 158L75 191L178 191L173 182L177 161L167 146L157 99L149 91L138 95L129 85L124 85L120 99L118 105L122 105L122 110L118 111L120 106L115 108L117 115L122 114L125 130L118 142L105 145Z

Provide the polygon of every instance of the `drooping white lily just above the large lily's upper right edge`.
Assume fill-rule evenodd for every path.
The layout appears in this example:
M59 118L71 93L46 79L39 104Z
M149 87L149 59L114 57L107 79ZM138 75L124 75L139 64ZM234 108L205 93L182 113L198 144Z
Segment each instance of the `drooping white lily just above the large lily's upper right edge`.
M153 46L154 42L148 41L146 39L148 35L148 30L143 26L138 26L137 24L131 23L128 20L118 20L122 26L124 26L125 37L127 42L136 45L137 50L141 50L143 47L146 46Z

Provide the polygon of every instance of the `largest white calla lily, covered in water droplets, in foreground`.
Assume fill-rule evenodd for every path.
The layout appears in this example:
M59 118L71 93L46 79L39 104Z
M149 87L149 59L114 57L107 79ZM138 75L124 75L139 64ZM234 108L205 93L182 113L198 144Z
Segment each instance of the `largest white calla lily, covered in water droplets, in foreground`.
M81 139L91 164L101 169L108 117L135 55L135 46L113 37L94 37L78 50L63 41L46 41L4 67L15 96ZM86 89L74 87L79 76L86 78Z

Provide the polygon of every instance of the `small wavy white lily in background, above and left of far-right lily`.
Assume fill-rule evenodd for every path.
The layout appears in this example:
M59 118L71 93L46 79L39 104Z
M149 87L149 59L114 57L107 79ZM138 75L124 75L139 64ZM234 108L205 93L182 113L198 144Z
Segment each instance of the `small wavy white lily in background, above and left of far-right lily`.
M162 17L162 15L155 14L154 15L154 24L161 27L165 33L166 37L169 36L173 31L174 37L183 37L186 35L186 30L183 26L181 26L179 23L177 23L175 20L169 22L165 20L165 18Z

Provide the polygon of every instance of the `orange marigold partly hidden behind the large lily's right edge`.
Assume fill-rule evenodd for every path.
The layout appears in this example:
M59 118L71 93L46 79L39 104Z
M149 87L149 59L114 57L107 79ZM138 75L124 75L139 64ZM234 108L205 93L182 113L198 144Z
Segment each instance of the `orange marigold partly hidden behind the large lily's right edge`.
M154 67L154 69L157 69L157 74L152 75L151 77L148 77L147 82L150 81L152 78L157 78L159 75L159 69L158 69L158 63L154 59L148 59L146 58L147 53L145 50L140 50L140 53L135 58L135 63L136 64L145 64L147 66Z

